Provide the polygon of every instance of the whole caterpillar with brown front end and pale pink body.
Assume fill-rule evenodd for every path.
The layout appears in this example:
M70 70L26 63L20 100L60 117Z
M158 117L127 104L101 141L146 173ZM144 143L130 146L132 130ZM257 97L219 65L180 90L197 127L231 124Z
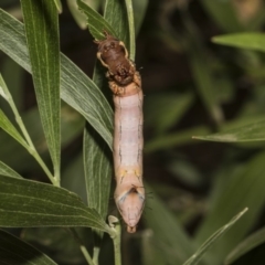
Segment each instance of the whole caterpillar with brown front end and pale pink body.
M128 59L125 44L104 32L97 59L107 68L113 92L115 202L129 233L136 232L145 206L142 183L142 91L139 72Z

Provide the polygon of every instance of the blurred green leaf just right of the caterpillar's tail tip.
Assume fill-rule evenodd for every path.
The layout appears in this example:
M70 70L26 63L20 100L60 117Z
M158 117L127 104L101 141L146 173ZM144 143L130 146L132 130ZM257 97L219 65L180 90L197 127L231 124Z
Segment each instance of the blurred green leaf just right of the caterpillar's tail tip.
M146 183L145 187L150 193L150 188ZM142 220L153 232L156 251L160 252L166 264L182 264L195 250L184 229L159 198L149 200L147 206L149 210L145 211Z

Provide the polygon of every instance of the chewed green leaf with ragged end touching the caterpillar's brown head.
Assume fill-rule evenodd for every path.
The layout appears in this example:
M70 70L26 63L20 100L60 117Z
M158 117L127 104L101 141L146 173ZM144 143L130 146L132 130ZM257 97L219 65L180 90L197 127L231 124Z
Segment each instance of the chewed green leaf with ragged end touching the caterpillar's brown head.
M87 24L92 35L96 40L105 39L104 31L117 36L112 25L94 9L88 7L82 0L77 0L78 8L87 17Z

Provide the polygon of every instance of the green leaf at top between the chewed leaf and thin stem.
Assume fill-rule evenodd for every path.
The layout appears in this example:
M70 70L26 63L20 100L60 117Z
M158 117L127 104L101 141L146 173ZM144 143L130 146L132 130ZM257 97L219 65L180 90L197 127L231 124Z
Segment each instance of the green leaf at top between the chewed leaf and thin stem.
M129 25L125 1L106 0L104 18L115 29L117 38L125 43L130 53ZM134 57L130 59L135 60Z

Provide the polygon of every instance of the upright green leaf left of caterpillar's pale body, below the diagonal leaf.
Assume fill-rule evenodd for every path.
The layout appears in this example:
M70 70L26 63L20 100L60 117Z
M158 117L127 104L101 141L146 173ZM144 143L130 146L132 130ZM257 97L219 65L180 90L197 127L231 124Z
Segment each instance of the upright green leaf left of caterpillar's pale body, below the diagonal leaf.
M84 131L83 150L87 205L106 219L113 174L112 153L89 125Z

